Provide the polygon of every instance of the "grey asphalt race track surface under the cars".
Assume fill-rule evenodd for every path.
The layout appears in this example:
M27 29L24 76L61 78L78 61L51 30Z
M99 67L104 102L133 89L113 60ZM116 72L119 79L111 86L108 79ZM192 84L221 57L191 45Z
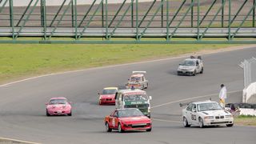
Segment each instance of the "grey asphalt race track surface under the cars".
M256 127L182 127L179 102L218 100L219 85L226 84L228 102L240 102L243 72L238 66L256 56L256 49L205 54L205 73L177 76L183 58L140 62L122 66L50 75L0 86L0 136L42 143L243 143L256 142ZM132 56L131 56L132 58ZM114 106L98 106L98 92L105 86L126 83L132 70L146 70L146 90L151 102L151 132L106 133L103 118ZM46 117L45 102L64 96L73 102L73 116ZM197 98L194 98L197 97Z

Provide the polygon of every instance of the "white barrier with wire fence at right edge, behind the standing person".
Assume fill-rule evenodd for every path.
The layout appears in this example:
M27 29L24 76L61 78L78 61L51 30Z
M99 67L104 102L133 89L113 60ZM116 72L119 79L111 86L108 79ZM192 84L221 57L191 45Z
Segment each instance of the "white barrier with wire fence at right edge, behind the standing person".
M242 102L256 103L256 58L244 60L240 66L244 70L245 86Z

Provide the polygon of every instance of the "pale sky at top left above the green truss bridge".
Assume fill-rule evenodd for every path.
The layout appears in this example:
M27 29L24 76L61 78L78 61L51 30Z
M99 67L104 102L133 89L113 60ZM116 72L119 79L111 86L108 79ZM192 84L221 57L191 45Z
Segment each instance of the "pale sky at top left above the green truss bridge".
M2 3L5 0L2 0ZM14 6L27 6L28 3L30 2L30 0L13 0L14 1ZM47 6L60 6L61 3L64 0L46 0L46 5ZM105 0L104 0L105 1ZM108 0L108 3L122 3L124 0ZM135 2L136 0L134 0ZM138 2L153 2L154 0L138 0ZM1 2L1 0L0 0ZM36 0L34 0L34 2L36 2ZM32 3L32 5L34 4L34 2ZM66 4L70 2L70 0L66 0ZM91 4L92 2L94 2L94 0L77 0L78 5L84 5L84 4ZM101 2L101 0L97 0L97 3ZM126 0L126 2L131 2L131 0ZM2 3L0 4L0 6L2 6ZM39 2L40 3L40 0ZM6 5L8 6L8 4Z

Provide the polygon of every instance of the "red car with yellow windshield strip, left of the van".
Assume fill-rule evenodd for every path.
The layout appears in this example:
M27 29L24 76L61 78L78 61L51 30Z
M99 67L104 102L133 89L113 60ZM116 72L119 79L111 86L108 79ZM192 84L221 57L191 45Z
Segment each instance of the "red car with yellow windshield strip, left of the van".
M115 93L118 91L118 87L106 87L102 90L102 94L98 93L98 104L111 104L114 105L115 103Z

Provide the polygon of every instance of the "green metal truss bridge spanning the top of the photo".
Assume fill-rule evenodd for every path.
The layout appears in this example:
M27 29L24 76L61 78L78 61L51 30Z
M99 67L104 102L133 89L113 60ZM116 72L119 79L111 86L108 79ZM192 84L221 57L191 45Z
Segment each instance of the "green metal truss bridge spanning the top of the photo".
M2 43L256 43L256 0L0 0Z

